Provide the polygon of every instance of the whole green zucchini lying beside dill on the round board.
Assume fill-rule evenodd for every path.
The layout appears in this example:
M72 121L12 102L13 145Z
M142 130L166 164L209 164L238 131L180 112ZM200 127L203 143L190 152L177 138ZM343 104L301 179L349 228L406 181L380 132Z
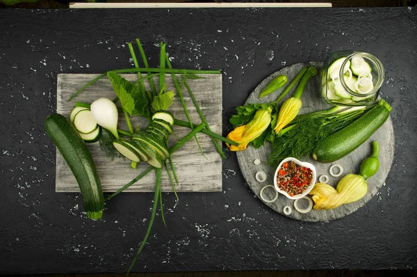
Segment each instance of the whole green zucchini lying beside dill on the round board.
M377 106L363 116L320 141L313 159L320 163L331 163L345 157L372 136L389 118L391 106L380 100Z

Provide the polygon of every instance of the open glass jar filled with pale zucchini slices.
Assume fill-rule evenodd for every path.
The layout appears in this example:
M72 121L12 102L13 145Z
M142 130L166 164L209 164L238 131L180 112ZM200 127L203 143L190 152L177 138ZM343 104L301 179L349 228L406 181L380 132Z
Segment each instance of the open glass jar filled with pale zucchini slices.
M321 95L336 106L374 104L385 78L384 65L366 52L330 54L321 70Z

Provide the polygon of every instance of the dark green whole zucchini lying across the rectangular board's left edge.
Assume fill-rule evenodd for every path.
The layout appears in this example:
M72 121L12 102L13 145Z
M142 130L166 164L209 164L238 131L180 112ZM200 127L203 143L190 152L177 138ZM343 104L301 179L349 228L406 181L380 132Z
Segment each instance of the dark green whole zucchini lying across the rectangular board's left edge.
M104 209L103 191L99 173L85 142L67 118L59 113L47 117L45 129L79 184L88 218L101 219Z

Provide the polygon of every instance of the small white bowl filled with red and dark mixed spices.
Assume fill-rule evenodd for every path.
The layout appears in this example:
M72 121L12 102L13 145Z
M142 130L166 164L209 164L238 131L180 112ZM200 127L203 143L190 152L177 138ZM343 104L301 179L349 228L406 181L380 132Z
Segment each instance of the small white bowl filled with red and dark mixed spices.
M290 199L306 196L316 184L316 168L307 162L289 157L275 171L275 189Z

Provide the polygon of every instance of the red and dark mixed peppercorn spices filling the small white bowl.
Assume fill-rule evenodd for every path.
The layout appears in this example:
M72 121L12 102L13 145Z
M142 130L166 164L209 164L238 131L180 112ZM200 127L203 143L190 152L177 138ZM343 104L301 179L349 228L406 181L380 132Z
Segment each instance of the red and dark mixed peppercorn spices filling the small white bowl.
M306 191L312 179L313 171L310 168L300 166L295 161L286 161L278 170L277 185L289 196L296 196Z

